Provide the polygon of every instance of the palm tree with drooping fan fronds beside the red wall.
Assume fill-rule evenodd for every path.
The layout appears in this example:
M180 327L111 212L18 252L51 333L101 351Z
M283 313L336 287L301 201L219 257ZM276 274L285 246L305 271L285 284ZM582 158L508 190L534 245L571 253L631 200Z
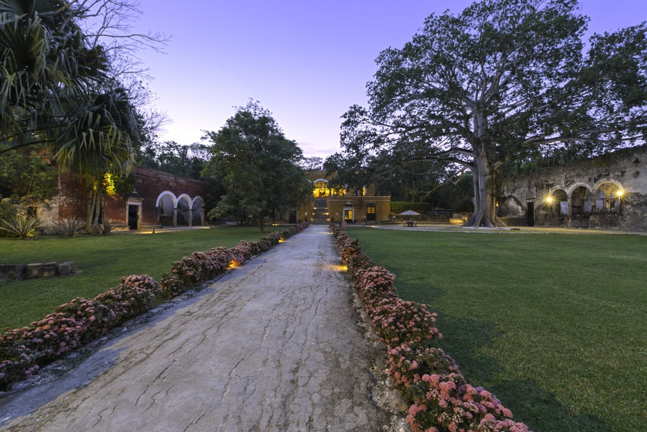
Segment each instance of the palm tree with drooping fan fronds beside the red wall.
M106 49L77 20L65 0L0 0L0 153L41 146L61 173L85 178L92 226L100 180L132 169L138 126Z

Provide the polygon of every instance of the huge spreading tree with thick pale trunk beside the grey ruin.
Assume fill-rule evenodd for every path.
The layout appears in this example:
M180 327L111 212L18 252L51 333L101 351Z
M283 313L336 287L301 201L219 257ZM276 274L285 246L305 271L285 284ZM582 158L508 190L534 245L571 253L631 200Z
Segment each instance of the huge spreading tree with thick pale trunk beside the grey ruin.
M601 152L644 142L646 23L582 40L577 0L484 0L432 14L377 58L368 108L344 115L344 158L440 160L471 170L466 226L501 226L493 175L541 148ZM586 49L585 49L586 48Z

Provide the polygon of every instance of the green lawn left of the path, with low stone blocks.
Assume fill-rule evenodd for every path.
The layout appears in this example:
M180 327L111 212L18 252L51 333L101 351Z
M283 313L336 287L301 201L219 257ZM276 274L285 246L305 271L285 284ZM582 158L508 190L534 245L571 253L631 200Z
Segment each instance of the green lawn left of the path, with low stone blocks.
M121 277L150 275L159 282L174 261L195 251L233 247L241 240L257 240L255 227L183 230L150 234L41 237L19 241L0 237L0 263L74 261L81 274L52 279L0 282L0 329L17 328L40 320L74 297L91 299L116 287Z

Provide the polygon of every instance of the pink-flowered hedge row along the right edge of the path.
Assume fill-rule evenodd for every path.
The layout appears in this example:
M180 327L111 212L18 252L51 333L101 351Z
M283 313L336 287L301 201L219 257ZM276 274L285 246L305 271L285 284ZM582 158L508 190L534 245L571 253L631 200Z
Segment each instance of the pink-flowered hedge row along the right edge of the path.
M406 421L413 432L527 432L497 398L468 384L457 364L434 340L436 314L427 306L401 300L395 275L375 264L356 239L331 226L335 246L348 268L375 333L387 347L386 373L408 404Z

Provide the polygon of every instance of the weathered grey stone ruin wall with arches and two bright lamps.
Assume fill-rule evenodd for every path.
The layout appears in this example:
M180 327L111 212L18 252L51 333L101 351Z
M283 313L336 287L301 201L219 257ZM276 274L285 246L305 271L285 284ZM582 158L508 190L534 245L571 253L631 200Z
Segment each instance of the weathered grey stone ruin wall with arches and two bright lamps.
M619 205L601 208L596 197L615 185L624 190ZM590 193L586 212L578 208L581 193ZM528 225L534 213L535 226L647 230L647 146L511 177L504 181L503 195L499 215L509 225ZM565 211L548 205L548 195L566 199Z

